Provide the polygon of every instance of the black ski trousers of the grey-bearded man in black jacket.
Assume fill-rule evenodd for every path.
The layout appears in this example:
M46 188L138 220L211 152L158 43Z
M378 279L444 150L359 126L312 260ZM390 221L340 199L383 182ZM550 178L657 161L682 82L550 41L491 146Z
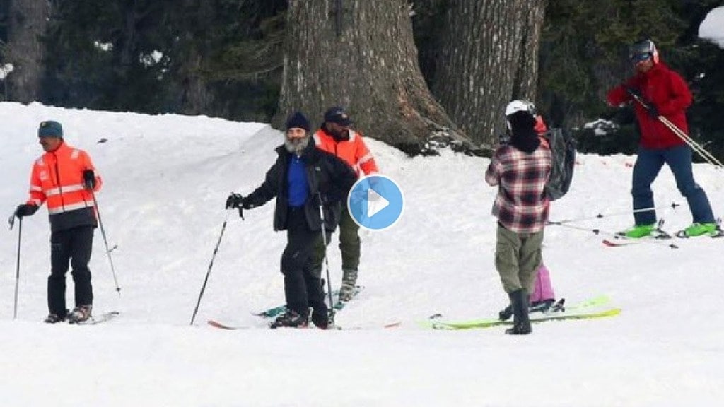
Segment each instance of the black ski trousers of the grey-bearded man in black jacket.
M321 272L313 267L311 255L321 231L311 231L304 208L290 207L287 213L287 247L282 253L282 274L287 308L308 316L311 306L315 314L327 315Z

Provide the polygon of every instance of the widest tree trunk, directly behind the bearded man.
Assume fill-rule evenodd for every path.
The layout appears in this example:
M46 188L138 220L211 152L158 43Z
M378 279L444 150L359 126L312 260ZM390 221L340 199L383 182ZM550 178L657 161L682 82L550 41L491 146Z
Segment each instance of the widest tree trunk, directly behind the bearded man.
M273 124L295 110L319 123L340 105L363 134L408 154L434 154L439 138L469 147L422 78L409 13L405 0L290 1Z

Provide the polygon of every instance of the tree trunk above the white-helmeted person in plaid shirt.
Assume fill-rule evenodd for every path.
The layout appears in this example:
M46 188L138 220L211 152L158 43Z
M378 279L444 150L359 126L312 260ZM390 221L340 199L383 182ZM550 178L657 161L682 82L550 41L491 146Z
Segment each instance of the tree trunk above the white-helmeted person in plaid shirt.
M534 101L546 0L451 0L433 93L476 142L505 131L505 105Z

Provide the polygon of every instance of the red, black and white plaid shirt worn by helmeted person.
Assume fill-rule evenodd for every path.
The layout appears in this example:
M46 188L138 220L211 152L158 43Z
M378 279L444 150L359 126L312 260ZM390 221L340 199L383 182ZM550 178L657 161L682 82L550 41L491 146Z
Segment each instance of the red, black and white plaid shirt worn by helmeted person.
M485 182L498 185L492 214L515 233L543 230L550 201L544 186L550 175L550 148L543 144L532 153L500 146L485 172Z

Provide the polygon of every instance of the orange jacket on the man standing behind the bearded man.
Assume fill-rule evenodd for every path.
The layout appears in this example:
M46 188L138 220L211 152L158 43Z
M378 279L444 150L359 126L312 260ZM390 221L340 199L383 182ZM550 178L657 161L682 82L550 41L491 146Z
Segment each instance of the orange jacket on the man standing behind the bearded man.
M348 140L335 140L334 137L319 129L314 133L314 143L317 148L332 153L345 161L360 176L360 172L364 175L379 172L374 157L369 152L369 148L364 143L362 135L355 130L348 130L350 138Z

